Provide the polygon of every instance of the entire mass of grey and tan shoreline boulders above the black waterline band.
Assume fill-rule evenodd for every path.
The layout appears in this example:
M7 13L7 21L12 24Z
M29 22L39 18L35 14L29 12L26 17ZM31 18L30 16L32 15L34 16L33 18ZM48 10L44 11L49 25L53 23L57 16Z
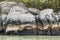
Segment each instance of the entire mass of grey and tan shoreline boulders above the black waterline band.
M6 32L37 29L38 34L51 35L50 30L52 29L52 34L60 33L60 12L55 14L53 9L40 11L36 8L28 8L21 2L17 5L15 2L3 1L0 2L0 6L0 25L1 22L3 26L7 24ZM38 15L34 16L32 14Z

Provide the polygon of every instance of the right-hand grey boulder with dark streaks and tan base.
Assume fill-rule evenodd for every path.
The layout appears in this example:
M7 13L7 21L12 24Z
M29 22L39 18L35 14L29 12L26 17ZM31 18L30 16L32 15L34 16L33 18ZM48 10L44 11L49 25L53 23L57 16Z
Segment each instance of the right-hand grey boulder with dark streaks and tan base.
M53 9L44 9L40 11L40 14L38 16L38 21L39 21L39 27L44 30L49 27L49 24L51 24L54 21L54 18L52 17L53 14ZM41 26L40 26L41 25Z

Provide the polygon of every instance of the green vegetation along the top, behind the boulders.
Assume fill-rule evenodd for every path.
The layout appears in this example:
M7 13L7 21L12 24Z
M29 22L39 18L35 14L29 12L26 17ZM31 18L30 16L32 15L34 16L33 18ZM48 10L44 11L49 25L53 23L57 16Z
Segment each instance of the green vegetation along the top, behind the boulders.
M3 1L3 0L0 0ZM28 7L35 7L38 9L53 8L54 11L60 9L60 0L10 0L16 2L23 2Z

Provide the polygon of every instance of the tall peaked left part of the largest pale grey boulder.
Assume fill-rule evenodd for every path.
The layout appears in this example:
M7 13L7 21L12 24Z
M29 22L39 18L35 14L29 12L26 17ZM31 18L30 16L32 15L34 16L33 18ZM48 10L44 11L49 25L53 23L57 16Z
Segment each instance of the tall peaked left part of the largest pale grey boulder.
M13 21L18 21L20 20L20 15L21 14L26 14L26 10L20 6L13 6L10 9L9 14L7 15L7 21L8 20L13 20Z

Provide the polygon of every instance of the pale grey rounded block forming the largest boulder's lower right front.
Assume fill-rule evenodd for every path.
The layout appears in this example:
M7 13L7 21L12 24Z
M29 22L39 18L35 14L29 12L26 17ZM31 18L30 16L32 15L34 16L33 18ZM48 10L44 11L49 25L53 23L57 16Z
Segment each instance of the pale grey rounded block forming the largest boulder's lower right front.
M35 21L35 17L32 14L30 14L30 13L28 13L28 14L21 14L20 15L20 22L21 23L33 22L33 21Z

